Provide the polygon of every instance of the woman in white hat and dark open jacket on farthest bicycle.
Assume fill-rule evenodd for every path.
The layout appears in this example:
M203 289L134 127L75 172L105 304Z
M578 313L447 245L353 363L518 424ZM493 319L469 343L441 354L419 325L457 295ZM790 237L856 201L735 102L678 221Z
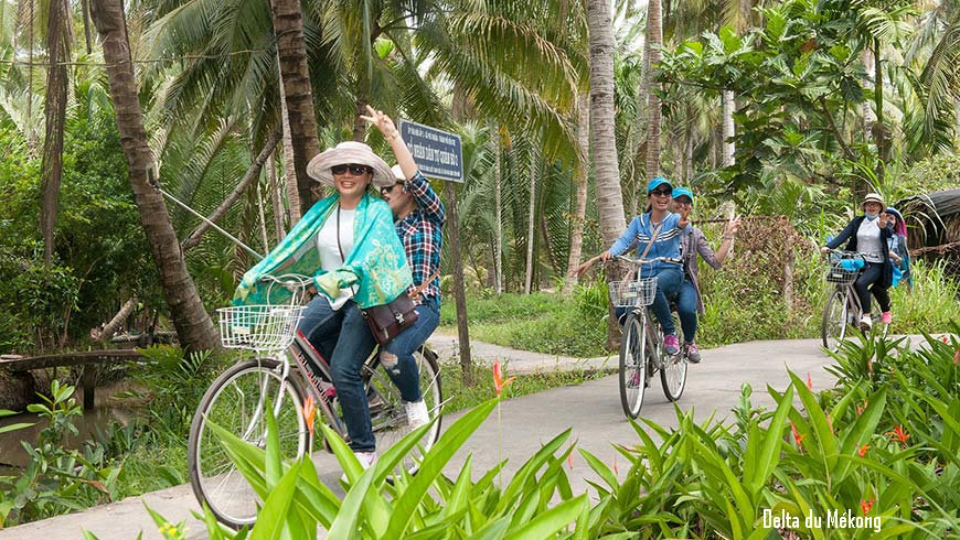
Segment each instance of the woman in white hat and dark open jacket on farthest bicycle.
M887 239L893 236L893 227L887 223L884 214L883 196L878 193L867 193L863 197L861 208L862 216L856 216L840 231L836 238L826 242L821 250L825 253L846 241L846 250L863 253L865 266L860 277L853 283L860 305L863 307L863 317L860 327L864 332L873 325L871 316L871 293L876 298L881 309L881 322L889 324L893 320L890 314L890 295L888 289L893 282L893 264L887 249Z

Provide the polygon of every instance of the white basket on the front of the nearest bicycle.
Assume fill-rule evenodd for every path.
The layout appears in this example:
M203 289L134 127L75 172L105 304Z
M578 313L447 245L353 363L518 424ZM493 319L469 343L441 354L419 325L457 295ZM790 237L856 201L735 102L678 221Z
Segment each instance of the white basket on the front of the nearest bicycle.
M303 306L237 305L216 311L224 347L265 353L284 350L294 343Z

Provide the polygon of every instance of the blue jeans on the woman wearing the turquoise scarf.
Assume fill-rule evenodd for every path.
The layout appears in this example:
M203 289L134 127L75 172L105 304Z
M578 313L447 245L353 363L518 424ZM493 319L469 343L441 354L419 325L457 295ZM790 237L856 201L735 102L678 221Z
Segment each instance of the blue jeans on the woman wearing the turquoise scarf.
M330 375L340 399L350 447L354 452L373 452L376 450L376 440L361 369L373 353L376 341L360 307L348 300L340 310L333 311L327 296L319 294L303 310L299 328L323 358L330 361Z

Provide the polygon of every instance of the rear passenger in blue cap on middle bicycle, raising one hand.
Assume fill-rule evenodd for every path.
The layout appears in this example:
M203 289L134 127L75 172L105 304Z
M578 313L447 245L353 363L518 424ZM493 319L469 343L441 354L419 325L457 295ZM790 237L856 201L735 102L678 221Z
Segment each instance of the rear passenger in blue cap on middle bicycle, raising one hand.
M689 187L673 190L673 208L675 212L690 212L693 209L693 192ZM710 247L703 231L691 226L689 235L681 240L680 251L683 259L683 285L676 299L676 314L680 316L680 326L683 328L683 347L686 349L686 358L698 364L702 356L696 346L697 313L704 312L703 298L700 294L700 282L696 273L696 255L714 269L723 266L724 259L733 245L737 229L740 227L740 218L730 219L724 229L723 240L716 252Z

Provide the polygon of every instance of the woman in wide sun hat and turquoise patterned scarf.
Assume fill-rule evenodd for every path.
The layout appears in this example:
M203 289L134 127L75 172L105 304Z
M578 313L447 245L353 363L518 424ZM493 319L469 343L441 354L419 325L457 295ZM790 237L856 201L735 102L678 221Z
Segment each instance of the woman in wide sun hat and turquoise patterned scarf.
M350 447L365 468L376 458L376 442L361 368L376 342L361 310L393 301L413 283L390 206L367 190L395 180L385 161L354 141L314 156L307 174L335 193L311 206L280 245L247 271L234 303L265 303L265 288L257 283L264 274L313 277L322 294L303 310L299 330L330 360Z

